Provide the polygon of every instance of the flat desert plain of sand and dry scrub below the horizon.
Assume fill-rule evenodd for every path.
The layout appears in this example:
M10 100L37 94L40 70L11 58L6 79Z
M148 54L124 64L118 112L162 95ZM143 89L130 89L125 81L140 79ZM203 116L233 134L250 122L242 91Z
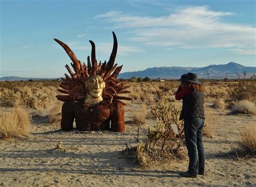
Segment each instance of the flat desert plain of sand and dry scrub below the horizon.
M157 123L150 106L157 103L159 92L164 93L168 103L181 107L181 101L174 99L178 81L129 83L129 96L133 100L126 102L123 133L60 130L62 103L55 98L58 84L58 81L0 84L1 115L23 107L31 123L24 134L5 138L1 134L0 186L256 185L255 152L254 155L239 152L241 132L255 132L255 81L205 82L206 173L197 178L179 176L180 171L187 170L187 159L141 167L136 159L125 156L126 145L136 146L137 139L145 142L148 126ZM238 108L235 105L244 100L250 106L240 107L247 110L235 111Z

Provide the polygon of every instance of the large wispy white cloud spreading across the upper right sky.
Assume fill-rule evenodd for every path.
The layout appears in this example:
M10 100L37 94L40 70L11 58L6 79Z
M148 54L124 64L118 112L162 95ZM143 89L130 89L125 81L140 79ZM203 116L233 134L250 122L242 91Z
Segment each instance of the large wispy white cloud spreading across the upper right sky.
M169 16L143 17L111 11L104 18L116 28L132 30L132 41L166 48L226 47L233 53L255 54L256 28L221 20L232 12L217 12L207 6L187 6Z

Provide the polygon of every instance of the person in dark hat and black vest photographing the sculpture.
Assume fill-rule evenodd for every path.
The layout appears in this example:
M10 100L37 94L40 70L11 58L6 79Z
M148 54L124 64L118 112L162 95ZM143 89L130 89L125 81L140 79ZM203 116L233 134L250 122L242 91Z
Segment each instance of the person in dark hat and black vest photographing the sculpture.
M187 73L184 83L176 92L177 100L183 99L180 120L184 119L184 132L188 157L188 171L181 172L182 177L197 177L204 175L205 150L203 143L204 114L204 88L197 80L197 74ZM181 76L181 82L183 77Z

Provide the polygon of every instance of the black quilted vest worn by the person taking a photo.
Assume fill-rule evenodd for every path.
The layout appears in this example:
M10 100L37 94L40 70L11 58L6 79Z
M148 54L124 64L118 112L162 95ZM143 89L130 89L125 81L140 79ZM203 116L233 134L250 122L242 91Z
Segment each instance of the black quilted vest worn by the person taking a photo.
M185 96L183 100L180 120L187 118L204 118L204 92L193 90L190 95Z

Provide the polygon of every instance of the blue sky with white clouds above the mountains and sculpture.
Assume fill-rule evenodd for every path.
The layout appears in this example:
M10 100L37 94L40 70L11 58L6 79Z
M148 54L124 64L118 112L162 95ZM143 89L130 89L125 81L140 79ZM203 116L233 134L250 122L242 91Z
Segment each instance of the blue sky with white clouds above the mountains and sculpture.
M53 38L85 62L96 44L125 71L204 67L237 62L255 66L255 1L4 1L1 2L0 77L62 77L71 60Z

